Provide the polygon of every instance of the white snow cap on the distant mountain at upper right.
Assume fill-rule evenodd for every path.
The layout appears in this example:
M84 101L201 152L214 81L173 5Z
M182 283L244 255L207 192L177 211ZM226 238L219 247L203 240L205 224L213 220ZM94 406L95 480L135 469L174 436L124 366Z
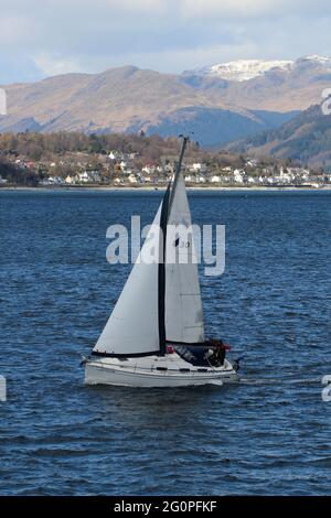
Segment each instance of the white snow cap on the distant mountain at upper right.
M191 72L194 75L214 76L226 80L249 80L265 75L273 69L290 72L299 67L302 63L311 63L317 66L331 68L331 58L318 55L300 57L297 61L263 61L263 60L238 60L228 63L221 63L205 66Z

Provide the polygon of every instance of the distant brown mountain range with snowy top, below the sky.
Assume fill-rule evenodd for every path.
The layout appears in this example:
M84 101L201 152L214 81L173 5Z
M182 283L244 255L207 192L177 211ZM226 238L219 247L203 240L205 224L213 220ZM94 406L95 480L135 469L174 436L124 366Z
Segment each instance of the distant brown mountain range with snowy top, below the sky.
M228 64L215 65L218 73L178 75L125 66L2 85L8 115L0 117L0 131L193 131L202 144L220 145L277 128L330 85L331 61L318 56L290 65L235 63L228 73Z

